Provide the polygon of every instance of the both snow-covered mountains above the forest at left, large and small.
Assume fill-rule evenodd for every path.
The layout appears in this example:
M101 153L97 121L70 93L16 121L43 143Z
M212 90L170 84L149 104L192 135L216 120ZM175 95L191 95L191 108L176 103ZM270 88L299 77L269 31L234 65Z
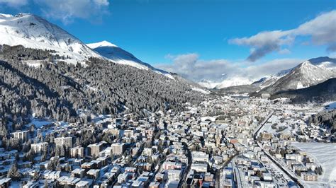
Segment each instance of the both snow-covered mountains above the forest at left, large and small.
M85 45L67 31L47 20L30 13L16 16L0 13L0 45L23 45L33 49L52 49L64 56L68 63L84 62L89 57L110 59L118 64L135 66L138 69L152 70L169 78L174 77L166 71L155 69L129 52L110 42L97 42Z

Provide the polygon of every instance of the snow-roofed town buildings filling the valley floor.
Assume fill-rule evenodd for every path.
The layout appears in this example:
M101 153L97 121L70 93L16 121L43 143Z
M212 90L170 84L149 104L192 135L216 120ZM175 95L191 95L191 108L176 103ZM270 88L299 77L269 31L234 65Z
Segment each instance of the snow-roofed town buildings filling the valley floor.
M1 143L0 187L288 187L279 165L318 179L313 158L291 147L307 127L288 101L225 96L186 109L13 131L22 147ZM272 115L287 128L265 129Z

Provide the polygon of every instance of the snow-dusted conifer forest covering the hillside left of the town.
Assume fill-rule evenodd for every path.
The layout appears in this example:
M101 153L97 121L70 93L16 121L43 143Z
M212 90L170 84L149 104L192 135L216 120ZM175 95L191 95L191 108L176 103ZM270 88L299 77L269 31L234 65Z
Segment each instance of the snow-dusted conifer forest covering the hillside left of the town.
M185 102L198 103L202 95L153 71L90 58L72 65L52 51L2 46L1 116L52 117L74 121L77 110L97 114L143 110L182 110ZM33 60L32 66L31 62ZM38 64L38 66L36 66Z

